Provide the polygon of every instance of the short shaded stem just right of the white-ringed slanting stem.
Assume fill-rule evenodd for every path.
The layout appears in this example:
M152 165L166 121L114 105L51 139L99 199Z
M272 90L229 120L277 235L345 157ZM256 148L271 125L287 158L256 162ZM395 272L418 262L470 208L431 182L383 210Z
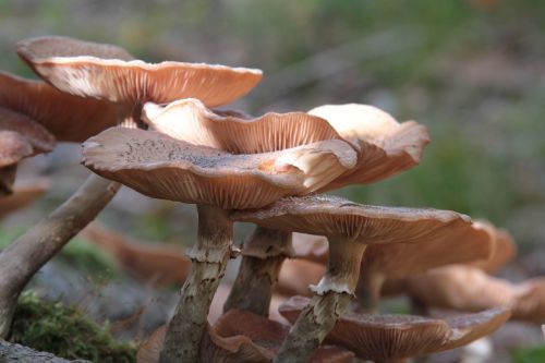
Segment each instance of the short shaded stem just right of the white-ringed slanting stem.
M380 290L383 288L386 276L373 270L366 270L362 266L361 279L358 281L355 295L358 304L353 311L362 314L376 313L380 301Z

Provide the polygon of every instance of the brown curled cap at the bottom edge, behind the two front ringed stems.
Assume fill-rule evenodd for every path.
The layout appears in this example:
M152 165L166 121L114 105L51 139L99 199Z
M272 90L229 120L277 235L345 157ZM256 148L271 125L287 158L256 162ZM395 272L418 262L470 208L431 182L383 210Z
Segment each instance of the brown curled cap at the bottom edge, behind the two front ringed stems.
M278 322L246 311L231 310L214 326L207 327L198 362L270 362L288 330L289 326ZM141 346L136 355L137 363L159 362L166 331L166 326L161 326ZM346 349L323 346L308 362L342 363L353 356L354 354Z

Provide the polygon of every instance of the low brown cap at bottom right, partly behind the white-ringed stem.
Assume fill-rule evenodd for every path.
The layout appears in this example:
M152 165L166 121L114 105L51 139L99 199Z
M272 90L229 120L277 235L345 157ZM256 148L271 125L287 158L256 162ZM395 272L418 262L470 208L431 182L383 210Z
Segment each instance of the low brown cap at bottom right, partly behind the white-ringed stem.
M293 297L279 311L288 320L295 322L307 303L307 298ZM509 316L507 307L444 319L348 312L339 317L325 341L344 347L363 360L401 363L409 358L465 346L499 328Z

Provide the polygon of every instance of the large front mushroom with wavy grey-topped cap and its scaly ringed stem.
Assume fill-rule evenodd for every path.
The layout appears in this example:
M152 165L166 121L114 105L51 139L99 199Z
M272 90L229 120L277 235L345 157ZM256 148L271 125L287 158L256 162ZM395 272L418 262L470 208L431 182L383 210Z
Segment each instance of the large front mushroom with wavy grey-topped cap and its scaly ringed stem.
M144 110L146 112L146 109ZM197 204L198 239L191 274L167 332L164 361L194 361L206 315L231 254L230 209L258 208L313 191L355 162L344 142L233 155L154 131L109 129L84 143L94 172L156 198Z

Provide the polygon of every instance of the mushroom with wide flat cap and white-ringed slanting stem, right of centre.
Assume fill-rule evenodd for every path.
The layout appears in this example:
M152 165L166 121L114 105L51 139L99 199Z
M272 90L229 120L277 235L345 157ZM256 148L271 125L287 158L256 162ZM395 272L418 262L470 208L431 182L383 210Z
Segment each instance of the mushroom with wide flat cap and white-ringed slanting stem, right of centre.
M304 362L346 310L358 282L366 245L413 243L461 234L469 217L453 211L366 206L334 196L288 197L232 218L265 228L326 235L327 273L304 314L286 339L276 362Z

